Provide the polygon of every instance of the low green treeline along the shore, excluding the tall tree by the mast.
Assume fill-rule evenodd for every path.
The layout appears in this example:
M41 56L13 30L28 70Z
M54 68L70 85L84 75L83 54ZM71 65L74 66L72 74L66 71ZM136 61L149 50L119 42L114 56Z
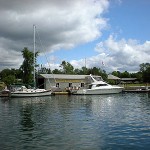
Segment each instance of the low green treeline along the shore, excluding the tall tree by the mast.
M93 67L86 68L82 67L81 69L74 69L74 67L69 63L63 61L60 65L61 69L51 70L49 68L40 67L37 70L38 74L76 74L76 75L100 75L104 80L107 80L107 73L101 68ZM130 73L128 71L120 72L113 71L111 73L114 76L119 78L137 78L140 82L150 83L150 64L143 63L140 65L140 70L136 73ZM32 78L32 77L31 77ZM23 82L23 71L21 69L4 69L0 72L1 81L5 82L7 85L17 82ZM32 81L31 81L32 82Z

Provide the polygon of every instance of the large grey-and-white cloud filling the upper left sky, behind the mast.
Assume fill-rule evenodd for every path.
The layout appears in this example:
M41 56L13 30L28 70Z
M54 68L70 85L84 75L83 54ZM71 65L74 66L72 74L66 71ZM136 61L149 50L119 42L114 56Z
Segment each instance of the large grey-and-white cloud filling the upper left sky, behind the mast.
M93 41L107 26L102 14L109 7L108 0L1 0L0 3L3 67L17 67L22 61L18 52L24 47L32 49L33 24L37 25L46 50L51 52Z

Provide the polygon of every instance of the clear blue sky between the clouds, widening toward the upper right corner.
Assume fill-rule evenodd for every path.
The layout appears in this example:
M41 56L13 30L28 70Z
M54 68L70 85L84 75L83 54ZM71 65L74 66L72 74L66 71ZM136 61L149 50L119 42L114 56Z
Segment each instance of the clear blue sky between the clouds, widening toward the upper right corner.
M108 27L102 31L101 37L70 50L61 49L55 51L52 55L56 56L59 62L62 60L70 62L71 60L88 59L91 56L99 54L99 52L95 51L96 44L100 41L107 40L110 35L114 35L118 41L120 39L133 39L137 40L140 44L145 43L145 41L150 41L149 8L150 1L148 0L110 1L107 12L103 14L103 16L108 19ZM105 62L105 59L100 59L99 65L97 63L97 67L101 67L101 61ZM149 62L150 58L147 61ZM144 58L143 62L140 63L145 63ZM128 66L121 68L121 71L136 71L140 63L136 64L135 69ZM82 64L84 65L84 61ZM107 69L108 72L112 70L109 66L105 69Z

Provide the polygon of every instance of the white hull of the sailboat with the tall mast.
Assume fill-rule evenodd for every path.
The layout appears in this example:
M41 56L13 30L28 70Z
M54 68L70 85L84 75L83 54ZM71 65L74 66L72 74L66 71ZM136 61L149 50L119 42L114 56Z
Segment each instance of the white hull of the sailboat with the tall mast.
M51 90L50 91L39 91L39 92L24 92L24 91L18 91L18 92L11 92L11 97L40 97L40 96L50 96L52 95Z

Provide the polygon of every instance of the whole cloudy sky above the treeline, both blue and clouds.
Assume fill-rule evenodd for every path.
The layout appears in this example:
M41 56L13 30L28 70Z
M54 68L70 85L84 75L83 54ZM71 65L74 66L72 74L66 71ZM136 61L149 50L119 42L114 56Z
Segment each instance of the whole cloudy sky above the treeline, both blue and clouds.
M24 47L33 51L34 24L44 67L64 60L137 72L150 63L149 8L149 0L0 0L0 70L19 68Z

